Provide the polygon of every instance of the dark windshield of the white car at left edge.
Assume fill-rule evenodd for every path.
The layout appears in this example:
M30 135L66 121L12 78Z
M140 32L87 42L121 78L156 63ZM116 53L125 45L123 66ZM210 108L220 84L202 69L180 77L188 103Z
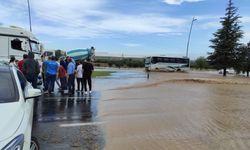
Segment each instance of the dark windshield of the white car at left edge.
M10 72L0 72L0 103L18 101L18 93Z

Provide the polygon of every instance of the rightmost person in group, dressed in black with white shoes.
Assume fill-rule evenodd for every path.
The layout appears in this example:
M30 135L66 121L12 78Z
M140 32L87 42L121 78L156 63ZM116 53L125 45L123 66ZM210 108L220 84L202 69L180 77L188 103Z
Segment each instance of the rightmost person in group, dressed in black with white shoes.
M85 94L87 94L87 82L89 85L89 94L91 94L92 90L92 81L91 81L91 75L94 70L94 67L92 63L90 62L90 59L87 59L87 62L84 62L82 64L82 69L83 69L83 83L84 83L84 88L85 88Z

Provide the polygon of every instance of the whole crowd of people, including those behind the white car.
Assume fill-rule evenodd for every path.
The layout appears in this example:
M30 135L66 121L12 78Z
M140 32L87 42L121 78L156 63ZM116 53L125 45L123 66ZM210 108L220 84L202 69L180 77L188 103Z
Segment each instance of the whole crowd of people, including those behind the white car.
M91 94L92 80L91 75L94 70L91 60L79 60L77 63L69 56L66 59L61 58L59 61L55 56L48 57L44 60L42 56L42 64L34 59L34 54L29 52L24 54L23 59L17 61L15 57L11 57L9 64L17 67L26 77L27 81L37 88L37 78L40 72L43 79L44 93L52 93L55 89L57 79L60 79L59 90L64 92L68 90L69 94L75 92L75 80L77 81L77 92ZM87 89L88 84L88 89Z

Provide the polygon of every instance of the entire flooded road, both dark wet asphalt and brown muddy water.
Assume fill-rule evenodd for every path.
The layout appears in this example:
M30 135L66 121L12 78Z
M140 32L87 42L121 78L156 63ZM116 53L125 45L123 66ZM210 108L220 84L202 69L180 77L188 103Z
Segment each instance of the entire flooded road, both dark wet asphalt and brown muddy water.
M215 72L115 70L91 95L44 95L43 150L249 150L250 79Z

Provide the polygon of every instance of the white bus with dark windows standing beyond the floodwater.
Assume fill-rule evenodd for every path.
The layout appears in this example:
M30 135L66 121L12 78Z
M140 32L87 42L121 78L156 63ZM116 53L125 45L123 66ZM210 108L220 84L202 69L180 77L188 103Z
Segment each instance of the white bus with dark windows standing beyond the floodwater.
M188 71L190 69L189 58L151 56L145 58L147 71Z

